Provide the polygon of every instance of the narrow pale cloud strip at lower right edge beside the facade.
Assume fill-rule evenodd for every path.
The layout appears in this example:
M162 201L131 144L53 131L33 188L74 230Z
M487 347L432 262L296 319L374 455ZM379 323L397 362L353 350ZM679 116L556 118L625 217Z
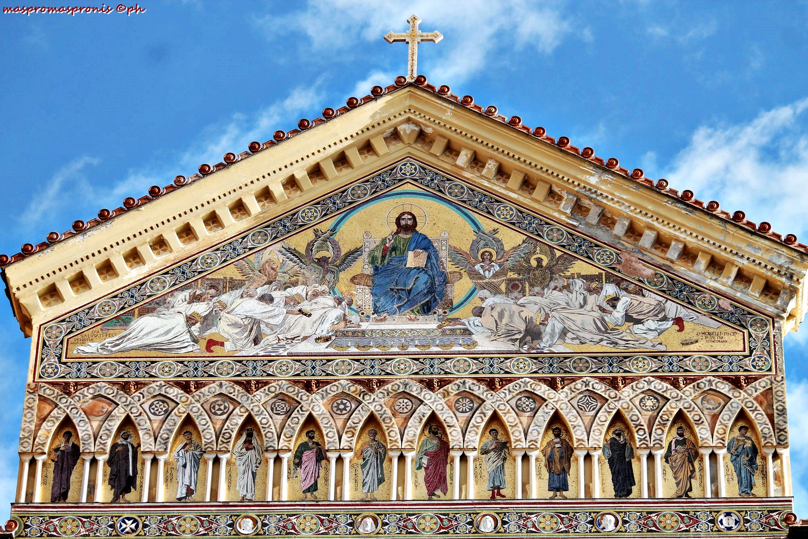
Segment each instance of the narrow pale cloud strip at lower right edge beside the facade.
M808 518L808 380L788 381L786 398L794 512Z

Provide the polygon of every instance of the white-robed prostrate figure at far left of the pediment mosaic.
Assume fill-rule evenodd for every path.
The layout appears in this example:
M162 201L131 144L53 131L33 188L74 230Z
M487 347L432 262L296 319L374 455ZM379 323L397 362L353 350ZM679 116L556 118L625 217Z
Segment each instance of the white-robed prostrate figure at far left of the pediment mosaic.
M206 314L221 309L213 301L178 305L162 313L144 314L135 318L118 335L100 343L76 347L78 354L117 354L143 350L168 354L202 352L196 326Z

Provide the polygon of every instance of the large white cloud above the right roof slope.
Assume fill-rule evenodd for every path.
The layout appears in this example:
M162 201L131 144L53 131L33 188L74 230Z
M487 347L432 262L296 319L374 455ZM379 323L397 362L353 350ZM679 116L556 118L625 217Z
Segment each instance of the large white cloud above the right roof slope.
M676 189L718 200L730 213L769 221L781 234L808 240L808 98L734 125L704 125L668 167Z

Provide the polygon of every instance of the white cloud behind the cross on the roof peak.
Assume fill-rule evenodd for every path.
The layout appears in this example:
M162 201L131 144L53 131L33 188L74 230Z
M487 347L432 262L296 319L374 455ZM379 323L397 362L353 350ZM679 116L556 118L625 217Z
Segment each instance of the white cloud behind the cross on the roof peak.
M387 32L404 32L406 19L417 14L423 23L423 32L439 31L444 35L440 44L419 46L419 72L428 69L430 77L440 83L461 82L492 63L498 46L520 50L535 48L539 53L552 53L567 36L577 34L580 39L592 39L591 30L573 23L560 2L487 2L467 0L458 9L455 2L372 2L364 0L323 0L309 2L301 11L289 15L265 15L255 20L260 28L267 28L271 36L277 32L299 33L309 36L314 49L346 49L356 47L357 40L381 41ZM268 30L270 29L271 30ZM269 35L269 34L268 34ZM406 57L406 44L393 44L401 48L399 57ZM393 55L393 52L390 53ZM507 61L502 58L499 62ZM398 73L406 73L404 62ZM388 79L389 80L389 79Z

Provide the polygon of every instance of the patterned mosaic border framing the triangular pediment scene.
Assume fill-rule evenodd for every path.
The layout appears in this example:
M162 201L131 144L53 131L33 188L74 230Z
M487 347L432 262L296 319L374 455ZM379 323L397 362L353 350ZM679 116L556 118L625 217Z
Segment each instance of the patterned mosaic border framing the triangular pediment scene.
M501 356L486 356L465 353L463 360L453 356L415 356L391 359L390 356L372 356L366 359L334 356L284 356L273 359L262 356L172 360L170 357L149 357L112 361L64 360L64 343L70 335L84 331L105 320L122 314L134 306L170 290L179 288L190 280L213 272L223 263L263 249L280 241L285 235L312 225L316 221L335 214L389 191L391 187L410 183L436 196L449 200L460 207L470 208L486 217L499 221L503 226L517 229L523 234L549 242L559 250L569 252L587 263L619 273L621 255L612 247L596 242L544 217L529 213L516 204L498 199L488 192L471 187L422 163L407 159L385 171L343 187L338 192L276 217L241 237L231 239L201 255L175 264L158 274L149 276L138 284L118 291L110 297L96 301L81 310L40 329L38 365L35 381L59 379L176 379L181 377L367 377L367 376L479 376L492 374L522 376L527 373L542 374L609 374L625 373L776 373L774 360L773 331L771 318L747 310L742 305L719 297L713 292L697 288L675 276L658 270L651 278L621 275L635 280L656 293L671 297L697 312L710 314L740 329L747 331L747 355L683 355L664 352L643 352L642 356L617 352L608 356L556 355L553 352L532 354L529 358L518 352ZM409 352L402 352L409 353Z

